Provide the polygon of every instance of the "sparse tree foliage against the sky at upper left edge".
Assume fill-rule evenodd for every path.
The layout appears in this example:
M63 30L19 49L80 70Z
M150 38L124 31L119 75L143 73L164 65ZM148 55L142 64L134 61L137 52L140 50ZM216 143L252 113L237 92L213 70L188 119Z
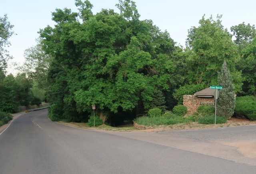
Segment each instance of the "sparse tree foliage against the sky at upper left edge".
M12 56L9 55L9 52L4 49L4 47L9 47L11 44L8 39L14 34L12 28L14 25L11 25L8 22L8 17L5 14L4 17L0 17L0 70L4 70L7 65L7 61L12 59Z

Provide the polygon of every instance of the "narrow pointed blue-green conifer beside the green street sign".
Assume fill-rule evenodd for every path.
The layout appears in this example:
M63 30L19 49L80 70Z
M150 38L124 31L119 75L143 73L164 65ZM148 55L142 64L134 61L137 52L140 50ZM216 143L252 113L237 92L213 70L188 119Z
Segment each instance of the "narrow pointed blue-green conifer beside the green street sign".
M236 101L232 77L227 69L226 60L224 60L221 72L218 72L218 84L222 86L222 90L220 90L217 100L217 115L230 119L234 114Z

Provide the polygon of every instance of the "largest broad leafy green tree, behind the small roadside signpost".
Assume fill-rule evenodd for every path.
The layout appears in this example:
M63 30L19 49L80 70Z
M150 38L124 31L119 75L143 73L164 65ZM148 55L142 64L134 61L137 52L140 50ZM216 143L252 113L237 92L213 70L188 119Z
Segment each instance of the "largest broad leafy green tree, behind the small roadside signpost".
M103 9L92 15L88 1L76 1L79 13L57 9L57 25L40 31L43 49L53 57L50 117L81 121L93 104L100 115L136 115L150 107L155 89L169 90L174 41L152 21L140 21L134 2L119 2L121 14Z

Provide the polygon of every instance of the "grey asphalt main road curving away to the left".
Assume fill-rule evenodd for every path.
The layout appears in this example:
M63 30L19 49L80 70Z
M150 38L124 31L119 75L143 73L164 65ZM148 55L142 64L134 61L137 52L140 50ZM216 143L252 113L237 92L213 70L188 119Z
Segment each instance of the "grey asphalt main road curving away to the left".
M190 132L90 131L52 122L47 110L34 111L0 134L0 174L256 173L255 159L204 154L214 142ZM194 152L196 145L204 150Z

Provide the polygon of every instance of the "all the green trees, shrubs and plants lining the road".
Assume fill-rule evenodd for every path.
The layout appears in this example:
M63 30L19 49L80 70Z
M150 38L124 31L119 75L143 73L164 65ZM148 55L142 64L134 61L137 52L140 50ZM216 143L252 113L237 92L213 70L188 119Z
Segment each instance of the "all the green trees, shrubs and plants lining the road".
M56 7L56 25L40 29L16 76L6 74L12 56L5 50L14 26L0 17L0 111L47 101L52 121L88 127L94 127L94 111L99 126L213 124L210 106L185 116L182 96L219 85L216 123L232 115L256 119L254 25L234 24L231 34L222 15L204 15L182 47L152 20L140 20L131 0L119 0L119 12L93 14L89 0L75 5L77 12Z

